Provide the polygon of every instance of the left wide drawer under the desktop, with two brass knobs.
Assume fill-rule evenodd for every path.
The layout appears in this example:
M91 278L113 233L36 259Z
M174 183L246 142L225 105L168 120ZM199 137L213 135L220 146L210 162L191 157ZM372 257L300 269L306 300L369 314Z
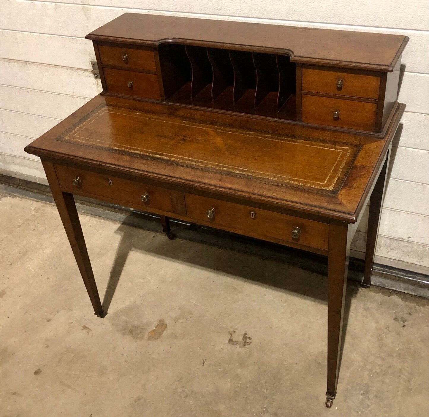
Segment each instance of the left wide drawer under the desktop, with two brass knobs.
M172 191L167 188L63 165L55 165L55 172L60 186L69 193L105 197L124 205L141 206L149 212L152 209L177 211L173 209ZM183 193L181 195L183 198Z

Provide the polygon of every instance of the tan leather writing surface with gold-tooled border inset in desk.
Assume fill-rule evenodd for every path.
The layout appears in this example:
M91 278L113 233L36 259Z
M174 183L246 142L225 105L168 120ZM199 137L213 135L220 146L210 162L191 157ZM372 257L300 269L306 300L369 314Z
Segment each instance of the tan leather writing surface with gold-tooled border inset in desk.
M105 105L57 140L328 194L341 189L361 148Z

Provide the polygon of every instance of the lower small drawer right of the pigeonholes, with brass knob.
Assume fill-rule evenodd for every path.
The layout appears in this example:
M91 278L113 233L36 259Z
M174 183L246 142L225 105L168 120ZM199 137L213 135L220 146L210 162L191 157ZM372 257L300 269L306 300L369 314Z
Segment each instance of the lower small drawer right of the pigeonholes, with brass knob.
M374 132L377 104L302 94L301 120L305 123Z

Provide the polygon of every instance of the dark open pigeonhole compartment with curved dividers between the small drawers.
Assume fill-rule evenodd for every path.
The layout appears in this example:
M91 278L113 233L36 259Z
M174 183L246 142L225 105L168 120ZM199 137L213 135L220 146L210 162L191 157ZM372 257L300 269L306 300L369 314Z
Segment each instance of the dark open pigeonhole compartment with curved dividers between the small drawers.
M166 100L295 120L296 65L288 55L164 44Z

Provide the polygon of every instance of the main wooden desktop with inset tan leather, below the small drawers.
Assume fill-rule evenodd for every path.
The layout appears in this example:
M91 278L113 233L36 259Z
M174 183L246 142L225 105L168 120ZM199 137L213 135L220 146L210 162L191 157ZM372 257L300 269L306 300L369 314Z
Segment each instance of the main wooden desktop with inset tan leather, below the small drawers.
M395 128L380 139L97 96L26 151L354 222Z

